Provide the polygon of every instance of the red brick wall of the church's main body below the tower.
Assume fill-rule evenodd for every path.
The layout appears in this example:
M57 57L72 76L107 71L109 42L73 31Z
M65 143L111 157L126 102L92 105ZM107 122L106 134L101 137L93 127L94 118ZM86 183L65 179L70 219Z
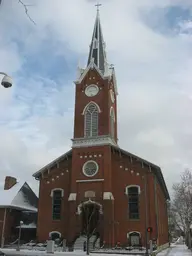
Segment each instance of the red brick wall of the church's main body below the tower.
M82 158L81 158L82 157ZM88 159L97 161L99 172L92 179L82 174L82 166ZM74 170L74 171L73 171ZM146 201L143 176L147 180L147 223ZM89 182L83 182L89 181ZM125 189L128 185L140 186L140 219L129 220L128 198ZM62 219L52 220L51 191L64 189L62 201ZM120 241L126 245L127 234L132 231L141 233L142 244L145 243L146 225L153 228L149 239L158 239L158 244L168 242L168 219L166 195L149 166L121 152L113 152L110 146L74 149L67 159L55 163L49 173L44 173L40 180L40 197L37 236L40 242L45 241L52 231L58 231L67 241L73 242L81 231L81 220L77 215L78 205L85 198L86 191L95 192L95 201L103 208L102 223L98 227L103 241L110 245ZM103 200L104 192L111 191L114 200ZM68 201L70 193L76 193L75 201Z

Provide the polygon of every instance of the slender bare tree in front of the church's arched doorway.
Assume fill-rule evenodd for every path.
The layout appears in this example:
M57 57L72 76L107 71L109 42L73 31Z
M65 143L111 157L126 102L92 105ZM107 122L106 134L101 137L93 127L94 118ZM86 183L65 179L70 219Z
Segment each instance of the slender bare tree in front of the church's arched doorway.
M98 204L88 200L83 202L81 205L82 209L82 224L83 233L86 236L86 253L89 255L90 252L90 238L95 233L99 225L99 214L100 209Z

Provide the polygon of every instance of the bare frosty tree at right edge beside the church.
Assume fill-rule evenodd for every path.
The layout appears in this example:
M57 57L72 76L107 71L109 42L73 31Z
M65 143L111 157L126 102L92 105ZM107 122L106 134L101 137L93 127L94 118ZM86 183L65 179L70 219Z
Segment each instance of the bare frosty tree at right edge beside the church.
M180 182L173 185L173 192L172 217L176 226L184 231L187 245L191 248L192 173L190 170L187 169L182 173Z

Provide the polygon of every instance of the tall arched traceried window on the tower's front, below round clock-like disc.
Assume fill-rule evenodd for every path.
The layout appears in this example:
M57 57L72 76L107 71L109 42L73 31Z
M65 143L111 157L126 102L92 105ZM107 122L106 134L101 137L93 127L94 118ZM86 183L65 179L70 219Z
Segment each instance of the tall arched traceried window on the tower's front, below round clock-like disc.
M99 109L96 104L90 103L84 113L85 137L98 136Z

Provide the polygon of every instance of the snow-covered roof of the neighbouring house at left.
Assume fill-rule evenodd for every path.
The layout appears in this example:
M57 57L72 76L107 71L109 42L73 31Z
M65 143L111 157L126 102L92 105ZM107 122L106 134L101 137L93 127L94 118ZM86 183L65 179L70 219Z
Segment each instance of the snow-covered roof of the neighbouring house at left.
M28 198L24 195L21 188L28 186L27 183L23 185L15 184L9 190L0 189L0 207L11 207L29 211L37 211L37 208L32 206L28 201Z

